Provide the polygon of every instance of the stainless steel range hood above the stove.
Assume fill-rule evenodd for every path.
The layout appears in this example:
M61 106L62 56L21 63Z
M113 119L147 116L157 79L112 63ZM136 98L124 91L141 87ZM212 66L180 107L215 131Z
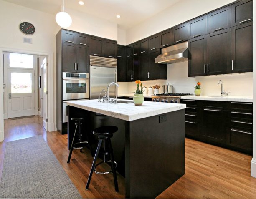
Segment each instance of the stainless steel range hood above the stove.
M161 49L161 55L155 58L155 63L178 63L188 60L188 42L171 45Z

